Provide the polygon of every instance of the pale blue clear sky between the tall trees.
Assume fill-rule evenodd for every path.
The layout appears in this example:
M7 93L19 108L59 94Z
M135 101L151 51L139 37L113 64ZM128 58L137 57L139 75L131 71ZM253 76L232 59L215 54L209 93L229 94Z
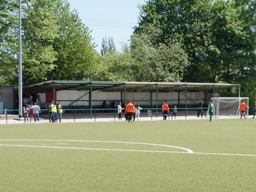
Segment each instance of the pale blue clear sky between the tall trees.
M140 10L145 0L68 0L70 10L76 9L82 22L92 31L95 48L100 52L102 38L113 37L116 49L121 42L129 42L137 25Z

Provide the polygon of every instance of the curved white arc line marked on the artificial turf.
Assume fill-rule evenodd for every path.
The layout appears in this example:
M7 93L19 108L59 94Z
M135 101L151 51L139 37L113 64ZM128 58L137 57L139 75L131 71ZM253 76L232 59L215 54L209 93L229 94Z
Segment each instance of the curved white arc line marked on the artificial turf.
M170 147L170 148L178 148L178 149L183 149L183 150L187 151L188 153L193 153L193 151L188 148L177 147L177 146L172 146L172 145L161 145L161 144L153 144L153 143L133 143L133 142L121 142L121 141L86 141L86 140L0 140L0 141L65 141L65 142L93 142L93 143L128 143L128 144L156 145L156 146L163 146L163 147ZM28 145L26 145L26 146L28 146ZM89 148L86 148L86 149L89 149ZM100 149L100 150L103 150L103 149ZM118 149L118 151L120 151L120 150L121 149ZM129 150L127 150L127 151L129 151ZM134 151L134 150L132 150L132 151Z

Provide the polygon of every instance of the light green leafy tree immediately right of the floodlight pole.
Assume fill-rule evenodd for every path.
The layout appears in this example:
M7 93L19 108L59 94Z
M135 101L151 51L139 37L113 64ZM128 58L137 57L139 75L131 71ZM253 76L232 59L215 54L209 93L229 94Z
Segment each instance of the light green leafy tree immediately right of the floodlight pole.
M57 52L53 48L58 26L53 17L55 0L31 0L23 4L23 84L47 80Z

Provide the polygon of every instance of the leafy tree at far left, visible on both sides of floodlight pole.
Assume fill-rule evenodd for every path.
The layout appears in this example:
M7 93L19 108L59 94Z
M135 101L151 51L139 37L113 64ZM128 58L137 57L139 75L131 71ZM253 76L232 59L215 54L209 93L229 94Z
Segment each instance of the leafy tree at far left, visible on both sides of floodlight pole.
M52 4L55 0L25 0L22 3L22 58L23 84L38 83L46 80L46 74L53 67L55 51L53 39L57 35L57 26L53 18ZM0 73L5 76L7 84L17 85L18 81L18 7L17 2L10 0L0 6L6 19L1 25L8 26L1 38ZM7 9L7 10L3 10ZM1 26L1 27L3 27Z

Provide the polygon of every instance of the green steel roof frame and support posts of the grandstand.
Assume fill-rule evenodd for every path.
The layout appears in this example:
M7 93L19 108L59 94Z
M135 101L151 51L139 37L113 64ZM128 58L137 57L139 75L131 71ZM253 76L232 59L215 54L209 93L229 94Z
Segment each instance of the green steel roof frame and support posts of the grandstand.
M124 86L123 88L120 86ZM52 88L51 88L52 86ZM154 87L155 86L155 87ZM188 90L211 90L212 96L215 96L216 88L239 88L239 97L241 96L241 85L240 84L212 84L212 83L163 83L163 82L112 82L112 81L46 81L39 84L34 84L31 86L24 87L27 90L39 90L43 89L44 92L51 92L53 89L53 100L55 101L55 93L59 90L88 90L89 91L89 108L90 117L92 118L92 92L96 90L111 90L111 91L123 91L124 102L127 101L127 91L150 91L151 93L155 91L156 93L156 116L158 116L158 92L159 91L180 91L185 90L185 106L186 106L186 116L187 116L187 92ZM151 96L152 104L152 96Z

